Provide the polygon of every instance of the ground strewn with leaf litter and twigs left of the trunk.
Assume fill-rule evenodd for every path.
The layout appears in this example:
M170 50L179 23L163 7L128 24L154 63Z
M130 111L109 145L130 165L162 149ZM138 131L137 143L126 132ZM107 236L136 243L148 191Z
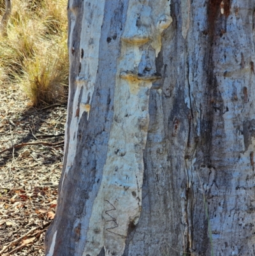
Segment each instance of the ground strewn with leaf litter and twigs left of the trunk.
M64 150L66 102L36 109L0 85L0 255L45 255Z

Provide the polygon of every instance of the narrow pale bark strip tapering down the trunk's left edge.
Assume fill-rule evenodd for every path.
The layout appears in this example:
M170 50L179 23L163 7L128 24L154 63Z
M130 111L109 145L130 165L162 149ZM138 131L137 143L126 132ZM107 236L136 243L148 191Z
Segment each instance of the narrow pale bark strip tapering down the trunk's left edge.
M73 0L69 3L69 8L72 10ZM73 165L77 149L77 129L80 118L84 112L91 110L91 100L94 93L94 84L96 82L96 73L98 72L99 63L99 41L101 36L101 26L103 24L103 13L105 8L105 0L84 0L83 24L89 22L90 26L82 26L80 34L80 49L73 49L73 42L69 42L69 61L72 61L72 50L80 51L80 73L76 79L77 90L73 100L73 116L69 124L69 144L68 156L66 163L65 175ZM71 29L69 38L73 38L73 29L75 27L75 11L71 11ZM78 103L81 95L80 103ZM69 102L69 100L68 100ZM68 129L66 129L68 130ZM67 134L65 138L67 138ZM65 144L67 145L67 143ZM64 178L62 184L64 183Z

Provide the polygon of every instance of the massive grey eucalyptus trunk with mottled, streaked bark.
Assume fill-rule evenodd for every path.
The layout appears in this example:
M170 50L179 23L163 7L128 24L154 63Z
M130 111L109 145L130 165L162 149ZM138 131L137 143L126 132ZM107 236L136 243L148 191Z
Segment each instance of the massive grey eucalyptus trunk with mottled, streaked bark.
M254 10L69 0L47 256L255 255Z

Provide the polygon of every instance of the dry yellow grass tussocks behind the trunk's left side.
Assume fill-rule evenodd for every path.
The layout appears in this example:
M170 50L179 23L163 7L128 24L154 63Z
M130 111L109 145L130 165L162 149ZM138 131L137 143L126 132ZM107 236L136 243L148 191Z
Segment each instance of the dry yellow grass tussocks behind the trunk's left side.
M67 0L13 0L8 36L0 38L0 83L15 83L34 106L65 95ZM4 0L0 0L0 19Z

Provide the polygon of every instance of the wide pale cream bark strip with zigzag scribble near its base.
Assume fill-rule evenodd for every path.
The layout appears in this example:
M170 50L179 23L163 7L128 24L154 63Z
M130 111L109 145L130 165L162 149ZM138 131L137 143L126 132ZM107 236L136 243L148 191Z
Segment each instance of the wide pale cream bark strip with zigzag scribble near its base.
M147 2L129 1L115 77L107 158L83 256L96 256L103 247L105 255L122 255L128 227L140 218L150 87L161 78L155 61L161 34L172 20L170 1Z

